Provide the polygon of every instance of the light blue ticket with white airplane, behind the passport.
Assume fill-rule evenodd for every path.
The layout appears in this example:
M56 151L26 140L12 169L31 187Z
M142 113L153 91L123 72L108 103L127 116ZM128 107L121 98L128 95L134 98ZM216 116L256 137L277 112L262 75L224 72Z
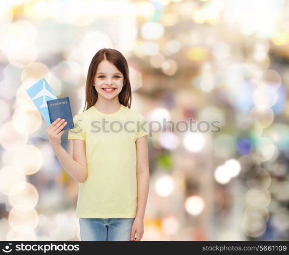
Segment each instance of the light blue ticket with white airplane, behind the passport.
M56 99L57 96L54 94L52 89L49 87L47 81L42 78L30 88L26 90L27 94L33 101L37 110L40 112L41 116L45 122L50 125L50 117L48 112L47 100Z

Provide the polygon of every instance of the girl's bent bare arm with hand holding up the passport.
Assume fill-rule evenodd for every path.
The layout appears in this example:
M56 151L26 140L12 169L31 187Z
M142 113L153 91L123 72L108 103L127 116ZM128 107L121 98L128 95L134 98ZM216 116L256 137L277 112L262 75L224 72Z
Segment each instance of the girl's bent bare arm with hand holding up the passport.
M85 156L85 141L73 139L73 156L61 146L61 131L67 123L64 120L55 120L47 129L49 143L60 164L77 182L84 182L87 178L87 163Z

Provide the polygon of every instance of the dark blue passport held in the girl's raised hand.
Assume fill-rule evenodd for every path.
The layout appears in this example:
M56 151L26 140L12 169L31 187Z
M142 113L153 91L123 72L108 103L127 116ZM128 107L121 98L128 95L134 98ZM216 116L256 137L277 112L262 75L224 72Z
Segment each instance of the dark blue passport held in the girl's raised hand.
M69 97L48 100L47 105L51 123L58 118L65 119L67 124L63 127L62 131L74 129Z

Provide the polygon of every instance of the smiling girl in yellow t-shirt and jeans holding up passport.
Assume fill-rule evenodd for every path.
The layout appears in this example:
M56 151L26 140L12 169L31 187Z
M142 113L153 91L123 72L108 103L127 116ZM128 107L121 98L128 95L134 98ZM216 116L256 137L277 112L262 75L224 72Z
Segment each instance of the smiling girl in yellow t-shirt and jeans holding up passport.
M148 129L143 115L130 109L128 64L118 50L95 54L85 94L86 109L69 130L72 157L60 144L66 121L47 129L62 167L79 182L81 240L140 241L149 189Z

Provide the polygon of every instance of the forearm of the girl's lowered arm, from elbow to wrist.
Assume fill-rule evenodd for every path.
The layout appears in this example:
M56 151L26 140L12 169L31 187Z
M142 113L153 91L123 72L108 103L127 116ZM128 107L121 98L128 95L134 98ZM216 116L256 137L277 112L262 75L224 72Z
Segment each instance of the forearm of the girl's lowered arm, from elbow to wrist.
M146 202L149 190L149 170L139 171L138 180L138 207L136 218L144 219Z

